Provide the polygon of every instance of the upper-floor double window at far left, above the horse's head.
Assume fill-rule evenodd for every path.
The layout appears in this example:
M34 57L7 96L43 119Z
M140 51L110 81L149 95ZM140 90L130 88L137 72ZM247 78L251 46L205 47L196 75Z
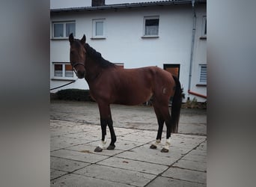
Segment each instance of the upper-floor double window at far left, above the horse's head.
M67 38L71 33L76 36L76 23L75 22L53 22L53 38Z

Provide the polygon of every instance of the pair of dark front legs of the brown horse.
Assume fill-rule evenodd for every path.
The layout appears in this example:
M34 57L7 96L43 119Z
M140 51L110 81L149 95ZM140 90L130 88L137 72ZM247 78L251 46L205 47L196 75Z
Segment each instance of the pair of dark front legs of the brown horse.
M109 126L109 131L111 135L111 142L109 144L109 147L107 147L108 150L114 150L115 149L115 141L116 136L113 128L113 121L112 121L112 115L110 111L109 105L106 105L104 103L99 103L99 110L100 110L100 126L101 126L101 132L102 132L102 138L101 143L98 147L94 150L94 152L101 152L103 151L103 148L105 148L106 145L106 126Z

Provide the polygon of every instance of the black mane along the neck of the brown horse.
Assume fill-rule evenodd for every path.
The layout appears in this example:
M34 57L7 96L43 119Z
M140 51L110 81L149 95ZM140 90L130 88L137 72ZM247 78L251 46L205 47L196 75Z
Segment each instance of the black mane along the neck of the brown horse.
M108 68L108 67L116 66L115 64L111 63L110 61L105 60L101 56L100 52L97 52L94 48L89 46L88 43L85 43L85 49L86 49L86 54L89 55L91 58L93 58L97 64L100 64L100 67Z

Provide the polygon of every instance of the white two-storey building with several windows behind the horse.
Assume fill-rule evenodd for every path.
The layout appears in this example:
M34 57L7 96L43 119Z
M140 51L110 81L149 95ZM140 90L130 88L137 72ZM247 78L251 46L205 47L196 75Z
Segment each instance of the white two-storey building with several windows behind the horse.
M207 1L144 1L110 4L92 0L85 7L51 9L50 87L77 77L69 63L68 36L86 42L124 68L157 66L180 79L186 99L206 101ZM61 89L88 89L85 79ZM186 99L184 101L186 101Z

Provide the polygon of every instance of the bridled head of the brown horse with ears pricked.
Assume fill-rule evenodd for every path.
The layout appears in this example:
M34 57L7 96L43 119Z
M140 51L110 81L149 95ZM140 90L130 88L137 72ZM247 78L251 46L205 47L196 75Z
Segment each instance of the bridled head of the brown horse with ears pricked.
M74 39L73 33L70 34L70 64L79 79L85 78L85 34L81 40Z

